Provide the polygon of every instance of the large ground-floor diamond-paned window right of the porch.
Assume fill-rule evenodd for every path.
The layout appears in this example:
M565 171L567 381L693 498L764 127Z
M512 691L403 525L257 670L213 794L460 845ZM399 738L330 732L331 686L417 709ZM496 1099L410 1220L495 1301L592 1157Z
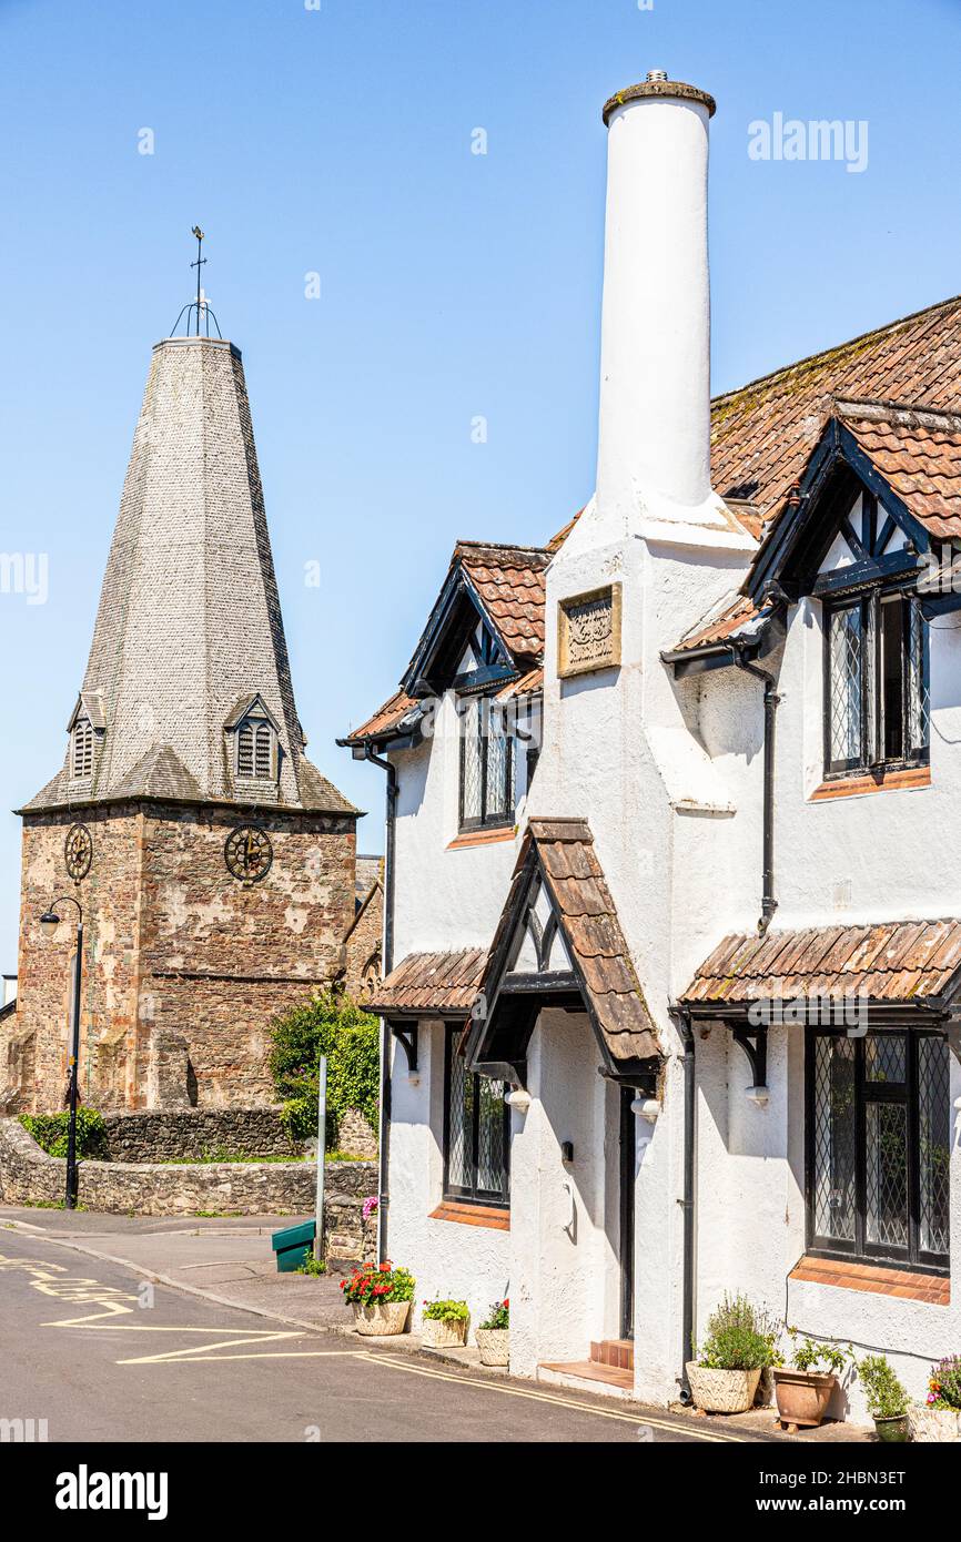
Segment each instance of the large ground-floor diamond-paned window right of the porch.
M811 1033L808 1247L947 1268L950 1089L935 1033Z

